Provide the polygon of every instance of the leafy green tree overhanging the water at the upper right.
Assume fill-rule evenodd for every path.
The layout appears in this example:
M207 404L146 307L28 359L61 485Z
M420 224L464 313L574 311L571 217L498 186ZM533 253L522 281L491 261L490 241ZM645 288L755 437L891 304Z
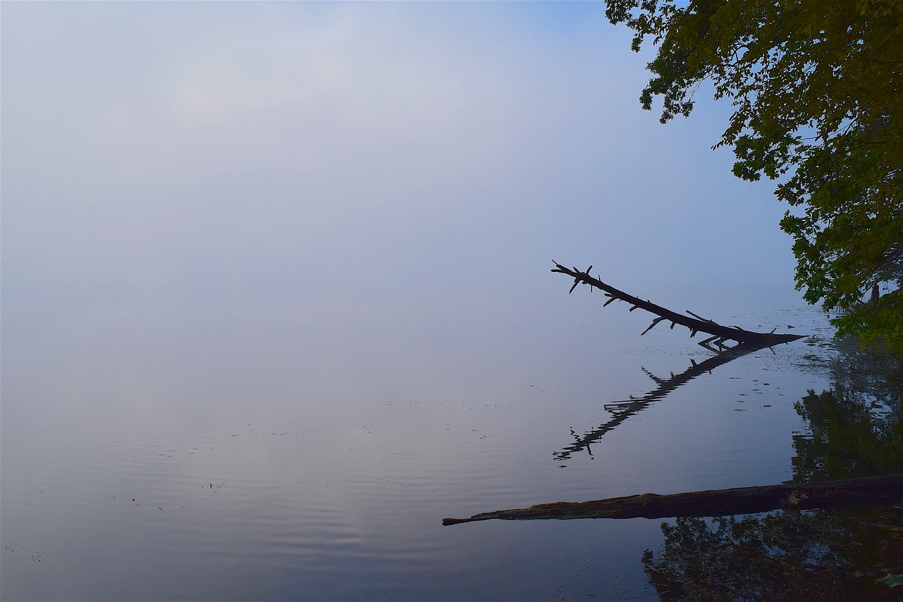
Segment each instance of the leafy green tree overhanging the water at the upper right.
M662 97L663 124L689 116L705 81L731 101L713 148L733 148L738 177L776 181L805 300L840 314L838 334L903 354L903 1L606 4L634 51L657 46L640 103ZM862 304L875 285L897 291Z

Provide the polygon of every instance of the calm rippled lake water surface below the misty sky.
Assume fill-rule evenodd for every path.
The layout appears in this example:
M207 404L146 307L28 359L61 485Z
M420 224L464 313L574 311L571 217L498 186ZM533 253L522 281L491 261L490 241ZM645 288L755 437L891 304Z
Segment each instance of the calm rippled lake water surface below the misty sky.
M600 433L606 404L712 354L685 329L640 338L641 311L547 280L547 294L7 304L0 594L654 599L639 559L659 520L442 518L790 479L793 403L829 386L826 320L792 291L637 292L816 338L697 375Z

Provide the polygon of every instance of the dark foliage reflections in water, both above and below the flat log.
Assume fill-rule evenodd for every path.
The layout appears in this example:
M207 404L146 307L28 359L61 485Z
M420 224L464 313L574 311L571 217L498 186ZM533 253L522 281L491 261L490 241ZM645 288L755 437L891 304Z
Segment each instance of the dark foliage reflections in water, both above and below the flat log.
M829 391L795 404L808 423L794 435L792 482L903 471L900 362L842 349ZM663 600L903 599L875 579L903 572L899 506L663 523L644 569Z

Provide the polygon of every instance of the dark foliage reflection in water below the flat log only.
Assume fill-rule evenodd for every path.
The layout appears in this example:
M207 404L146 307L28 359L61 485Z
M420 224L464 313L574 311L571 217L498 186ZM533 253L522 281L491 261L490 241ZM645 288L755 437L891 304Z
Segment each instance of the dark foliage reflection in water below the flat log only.
M903 599L874 582L899 572L899 519L898 508L678 518L643 565L662 600Z

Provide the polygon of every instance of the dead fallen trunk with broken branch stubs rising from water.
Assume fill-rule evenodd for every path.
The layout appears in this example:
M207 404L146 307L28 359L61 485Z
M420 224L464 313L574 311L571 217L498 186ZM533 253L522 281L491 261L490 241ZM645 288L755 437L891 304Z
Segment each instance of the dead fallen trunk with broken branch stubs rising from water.
M638 297L634 297L633 295L628 295L628 293L619 291L618 289L606 284L605 282L600 281L598 278L593 278L590 275L590 270L592 266L586 269L586 272L581 272L577 268L569 269L564 267L562 264L558 262L554 262L555 269L552 270L556 273L564 273L573 278L573 286L571 287L571 292L577 285L581 282L584 284L589 284L592 288L600 289L600 291L605 293L606 297L609 297L608 301L605 301L605 305L608 305L611 301L627 301L630 303L630 311L633 310L646 310L649 313L653 313L658 316L655 320L652 320L652 324L644 330L641 335L645 335L650 329L652 329L658 322L662 320L668 320L671 322L671 328L675 327L675 324L680 324L681 326L690 329L690 337L694 337L697 332L704 332L706 334L712 335L711 338L706 338L700 345L703 347L712 349L712 351L719 352L723 350L725 347L725 342L732 340L736 341L738 344L749 344L749 345L759 345L760 347L770 347L772 345L777 345L778 343L789 343L790 341L794 341L797 338L803 338L803 335L790 335L790 334L775 334L775 329L772 329L771 332L752 332L750 330L741 329L739 326L722 326L721 324L712 321L706 320L700 316L697 316L692 311L687 311L692 318L684 316L684 314L677 313L676 311L668 310L660 305L656 305L652 301L643 301ZM602 306L604 307L604 305Z

